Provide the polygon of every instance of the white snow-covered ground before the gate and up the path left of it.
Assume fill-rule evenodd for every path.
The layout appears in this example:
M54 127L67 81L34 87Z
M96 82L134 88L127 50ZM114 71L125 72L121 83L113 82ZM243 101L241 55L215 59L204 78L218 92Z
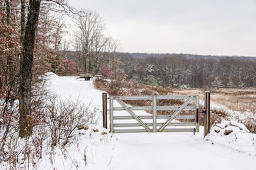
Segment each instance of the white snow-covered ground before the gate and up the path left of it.
M79 98L90 104L91 111L99 108L96 114L101 117L103 91L94 89L93 81L48 74L48 84L50 91L62 99ZM236 130L230 135L212 130L204 140L204 127L194 135L192 132L111 134L101 126L102 120L99 120L98 125L89 125L88 130L77 130L75 140L67 145L67 150L55 150L51 158L53 164L50 154L45 153L37 168L256 169L256 135L244 130Z

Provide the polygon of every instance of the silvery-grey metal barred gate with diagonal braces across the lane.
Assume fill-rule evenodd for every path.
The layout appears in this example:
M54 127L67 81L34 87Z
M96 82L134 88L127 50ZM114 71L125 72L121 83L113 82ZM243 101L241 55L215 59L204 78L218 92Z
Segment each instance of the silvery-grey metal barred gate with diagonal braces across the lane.
M185 101L181 106L157 106L157 100L175 99L184 99ZM123 102L127 100L152 101L152 106L128 106ZM199 132L199 95L111 96L109 102L111 132ZM114 102L119 106L113 106ZM185 110L191 110L193 114L181 114ZM141 115L135 111L152 111L152 114ZM157 111L173 111L174 113L172 115L157 115ZM181 122L179 121L181 119L193 121Z

